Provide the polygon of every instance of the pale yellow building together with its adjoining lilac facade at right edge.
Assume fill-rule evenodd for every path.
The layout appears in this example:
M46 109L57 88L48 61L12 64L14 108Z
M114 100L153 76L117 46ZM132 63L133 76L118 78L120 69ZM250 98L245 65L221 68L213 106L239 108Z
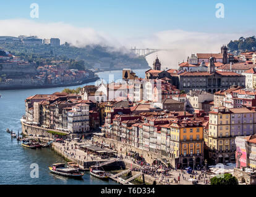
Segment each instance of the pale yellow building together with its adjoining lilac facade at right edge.
M209 158L215 163L235 162L235 137L255 134L255 109L214 108L209 113Z

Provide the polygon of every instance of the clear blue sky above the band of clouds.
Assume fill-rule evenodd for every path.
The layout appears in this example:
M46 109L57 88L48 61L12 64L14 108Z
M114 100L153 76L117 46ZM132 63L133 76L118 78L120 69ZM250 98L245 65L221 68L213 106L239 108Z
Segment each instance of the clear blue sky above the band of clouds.
M39 18L30 18L30 4L39 5ZM216 18L223 3L225 17ZM90 27L113 36L143 37L166 30L205 33L254 31L256 1L237 0L9 0L1 2L0 20L25 18Z

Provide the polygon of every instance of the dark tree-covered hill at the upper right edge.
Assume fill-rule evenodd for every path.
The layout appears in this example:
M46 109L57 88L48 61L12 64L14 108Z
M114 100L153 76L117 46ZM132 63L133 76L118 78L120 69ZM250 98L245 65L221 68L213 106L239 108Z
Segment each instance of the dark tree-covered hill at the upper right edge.
M234 55L239 55L242 51L255 51L256 50L256 38L251 36L248 38L241 37L238 40L230 41L228 48Z

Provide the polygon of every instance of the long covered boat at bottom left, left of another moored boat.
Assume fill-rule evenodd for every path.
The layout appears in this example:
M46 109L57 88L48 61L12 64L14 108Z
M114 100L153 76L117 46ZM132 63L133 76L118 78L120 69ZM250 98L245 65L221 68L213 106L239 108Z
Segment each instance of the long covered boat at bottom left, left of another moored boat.
M83 177L83 173L79 172L79 169L75 169L73 167L65 167L64 163L56 163L49 166L49 170L53 174L62 175L64 177L70 177L74 179L81 179Z

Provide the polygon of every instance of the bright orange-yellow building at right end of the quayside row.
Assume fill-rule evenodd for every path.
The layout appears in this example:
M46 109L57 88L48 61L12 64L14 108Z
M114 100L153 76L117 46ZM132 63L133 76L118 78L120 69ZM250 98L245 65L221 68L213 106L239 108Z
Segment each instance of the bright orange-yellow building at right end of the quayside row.
M197 120L174 121L171 124L170 145L179 167L195 167L203 163L203 125ZM171 147L170 147L171 148Z

